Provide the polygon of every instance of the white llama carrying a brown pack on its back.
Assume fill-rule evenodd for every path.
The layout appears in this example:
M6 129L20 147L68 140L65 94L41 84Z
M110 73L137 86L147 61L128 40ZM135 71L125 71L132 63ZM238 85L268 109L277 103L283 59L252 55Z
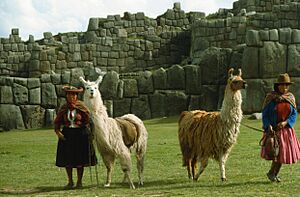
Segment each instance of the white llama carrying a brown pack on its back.
M85 87L83 100L91 113L95 142L107 169L106 184L104 186L110 186L113 165L115 159L119 158L121 168L124 172L123 181L127 180L130 188L134 189L135 186L130 177L130 149L135 149L139 184L143 185L144 157L148 133L143 122L133 114L127 114L117 119L108 117L101 93L98 90L104 74L102 72L95 82L85 81L83 77L80 77ZM128 134L126 131L130 133ZM125 144L122 135L131 137L131 141L129 139L131 143L128 144L127 138L125 139L127 140L127 144Z

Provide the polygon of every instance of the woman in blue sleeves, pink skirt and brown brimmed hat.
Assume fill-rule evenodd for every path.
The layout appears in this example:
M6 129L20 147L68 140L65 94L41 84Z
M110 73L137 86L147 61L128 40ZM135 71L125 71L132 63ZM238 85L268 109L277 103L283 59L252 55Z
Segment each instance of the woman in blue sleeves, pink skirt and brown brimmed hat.
M261 149L261 157L272 160L271 169L267 173L272 182L281 181L278 173L282 164L296 163L300 158L300 144L293 128L297 119L297 107L295 96L289 92L289 85L292 83L287 73L280 74L274 83L274 91L266 96L263 104L264 137L273 130L279 141L279 152L274 158L270 157L266 147Z

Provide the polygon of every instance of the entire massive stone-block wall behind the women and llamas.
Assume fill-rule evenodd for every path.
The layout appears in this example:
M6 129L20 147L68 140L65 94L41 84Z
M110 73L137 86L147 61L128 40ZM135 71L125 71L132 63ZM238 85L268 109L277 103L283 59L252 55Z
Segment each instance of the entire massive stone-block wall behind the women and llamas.
M217 110L227 70L242 68L244 113L259 112L279 73L300 98L300 2L239 0L205 16L179 3L156 19L142 12L91 18L86 32L24 41L0 38L0 130L51 126L64 84L95 80L111 116L142 119ZM297 100L297 104L300 101Z

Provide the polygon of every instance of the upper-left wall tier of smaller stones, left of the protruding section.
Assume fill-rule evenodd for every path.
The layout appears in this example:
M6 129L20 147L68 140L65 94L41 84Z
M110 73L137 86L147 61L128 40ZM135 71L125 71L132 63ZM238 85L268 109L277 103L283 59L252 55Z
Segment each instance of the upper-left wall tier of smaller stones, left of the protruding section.
M189 56L190 25L204 13L185 13L175 3L156 19L143 12L91 18L86 32L70 32L22 41L19 30L0 38L0 75L41 74L87 67L118 73L170 67Z

